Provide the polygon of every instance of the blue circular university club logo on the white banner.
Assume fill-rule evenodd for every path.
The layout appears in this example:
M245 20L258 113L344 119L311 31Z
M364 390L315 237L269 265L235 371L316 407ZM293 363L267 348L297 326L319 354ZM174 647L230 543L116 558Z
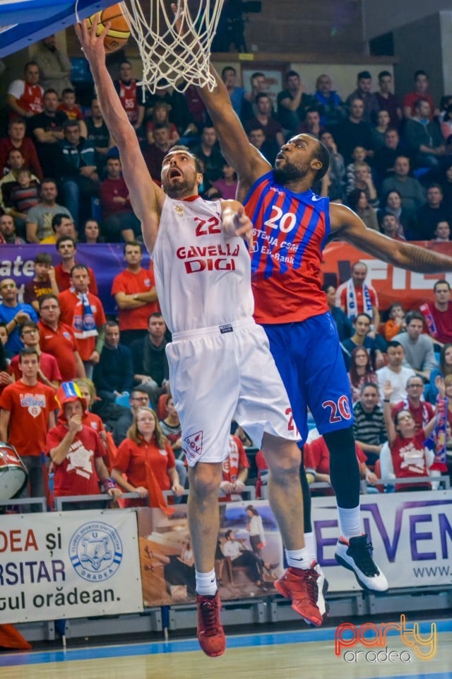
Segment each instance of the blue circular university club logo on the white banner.
M69 542L69 559L83 580L108 580L122 561L121 538L108 523L93 521L76 530Z

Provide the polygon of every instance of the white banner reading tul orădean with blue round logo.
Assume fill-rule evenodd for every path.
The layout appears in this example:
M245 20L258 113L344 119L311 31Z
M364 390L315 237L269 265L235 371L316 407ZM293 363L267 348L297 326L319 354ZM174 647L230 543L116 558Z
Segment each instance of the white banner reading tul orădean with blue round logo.
M141 610L134 511L66 511L2 518L0 623Z

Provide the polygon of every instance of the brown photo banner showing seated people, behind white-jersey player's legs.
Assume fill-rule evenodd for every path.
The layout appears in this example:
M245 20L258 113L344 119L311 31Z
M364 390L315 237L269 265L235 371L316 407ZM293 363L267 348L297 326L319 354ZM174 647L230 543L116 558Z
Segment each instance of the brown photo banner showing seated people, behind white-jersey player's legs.
M175 509L169 517L160 509L138 511L145 606L196 600L187 508L179 504ZM263 528L257 537L251 535L252 516ZM220 504L215 574L222 600L275 594L273 584L283 571L283 543L268 502Z

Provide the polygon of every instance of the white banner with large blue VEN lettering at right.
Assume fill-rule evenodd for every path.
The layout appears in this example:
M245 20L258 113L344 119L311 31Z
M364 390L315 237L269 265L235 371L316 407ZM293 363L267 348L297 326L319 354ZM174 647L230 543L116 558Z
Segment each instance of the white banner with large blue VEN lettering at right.
M312 500L317 559L328 591L359 590L335 562L339 528L334 497ZM390 588L452 584L452 490L361 496L362 526Z

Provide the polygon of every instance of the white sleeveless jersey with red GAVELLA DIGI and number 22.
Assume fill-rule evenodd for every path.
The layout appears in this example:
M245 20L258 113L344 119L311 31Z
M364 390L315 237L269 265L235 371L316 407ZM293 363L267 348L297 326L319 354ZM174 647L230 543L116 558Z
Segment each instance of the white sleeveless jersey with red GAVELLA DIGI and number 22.
M219 201L166 197L152 257L160 308L171 332L253 315L250 256L242 238L223 233Z

